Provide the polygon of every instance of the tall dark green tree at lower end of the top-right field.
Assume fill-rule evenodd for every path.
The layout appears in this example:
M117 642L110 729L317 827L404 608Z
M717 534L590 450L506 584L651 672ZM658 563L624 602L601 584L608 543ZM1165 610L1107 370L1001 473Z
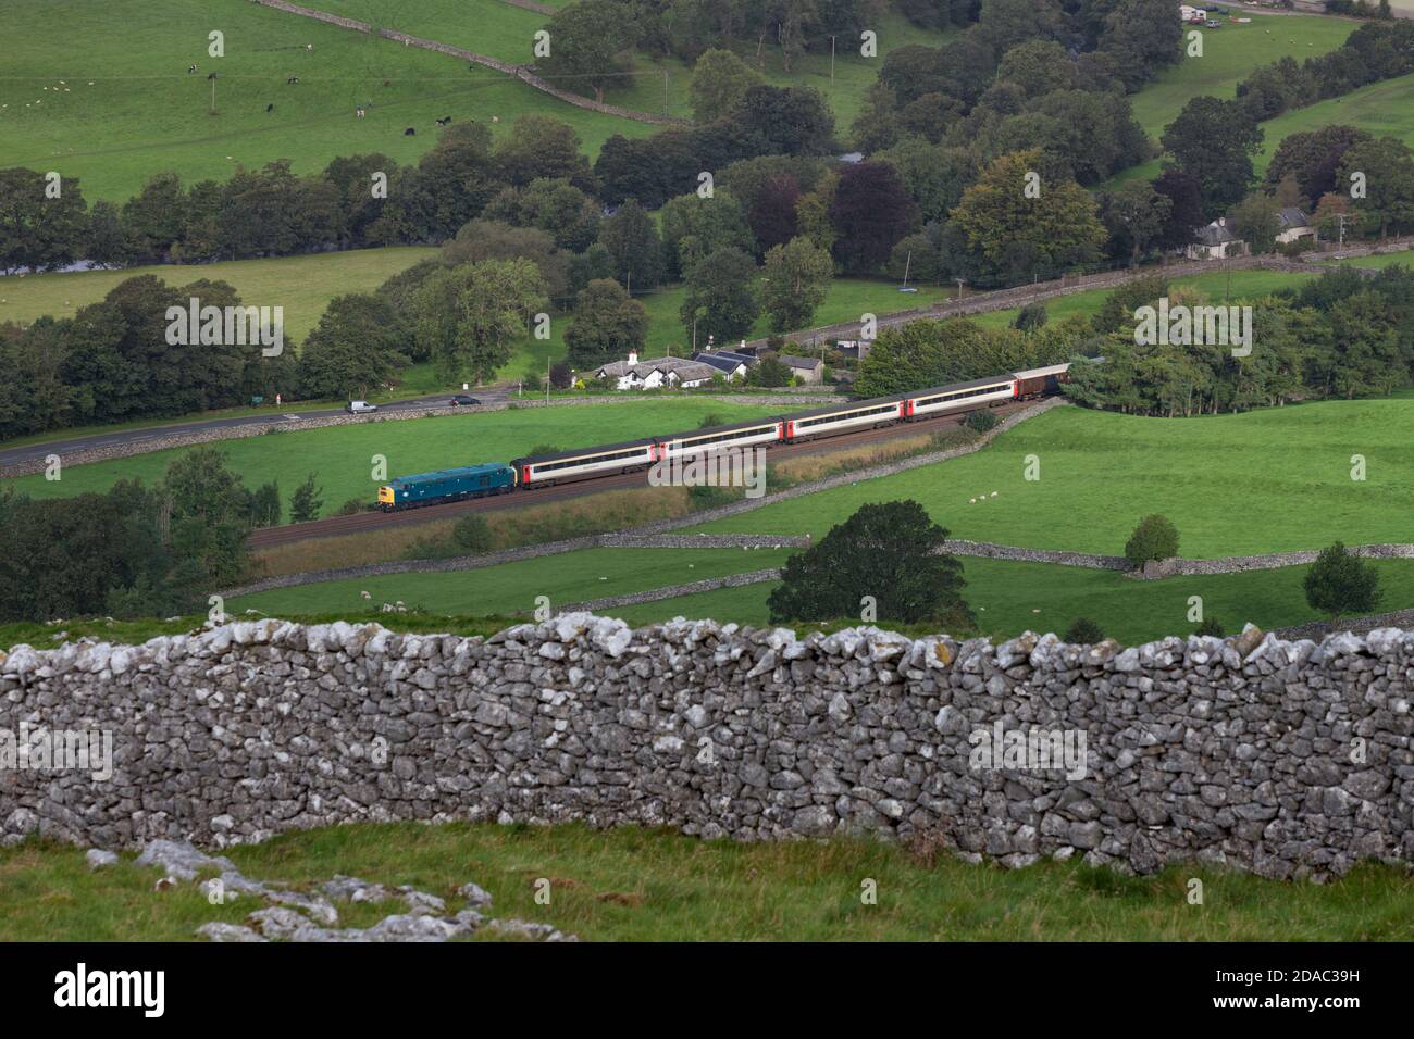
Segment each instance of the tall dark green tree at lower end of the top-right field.
M1261 127L1240 102L1199 95L1168 124L1161 140L1176 168L1198 178L1208 219L1220 216L1247 194Z

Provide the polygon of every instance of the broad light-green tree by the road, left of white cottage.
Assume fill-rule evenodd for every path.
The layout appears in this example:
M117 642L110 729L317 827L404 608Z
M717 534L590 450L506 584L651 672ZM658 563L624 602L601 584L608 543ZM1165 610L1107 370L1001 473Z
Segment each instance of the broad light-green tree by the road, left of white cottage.
M491 379L515 341L549 308L544 278L530 260L484 260L440 271L417 294L417 338L444 382Z

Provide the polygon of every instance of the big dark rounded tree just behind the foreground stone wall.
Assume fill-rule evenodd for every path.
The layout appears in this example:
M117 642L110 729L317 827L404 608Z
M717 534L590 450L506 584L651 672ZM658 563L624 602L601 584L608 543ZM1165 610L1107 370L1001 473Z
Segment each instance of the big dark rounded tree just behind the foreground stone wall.
M860 616L874 599L880 621L940 621L970 628L963 567L943 553L947 530L913 500L861 506L819 544L792 556L766 606L772 623Z

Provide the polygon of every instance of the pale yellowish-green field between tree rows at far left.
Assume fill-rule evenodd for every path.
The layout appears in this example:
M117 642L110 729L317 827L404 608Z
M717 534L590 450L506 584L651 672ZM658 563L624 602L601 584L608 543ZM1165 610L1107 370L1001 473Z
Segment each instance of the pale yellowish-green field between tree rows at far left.
M240 293L246 305L284 307L284 331L303 342L335 295L372 293L393 274L436 254L436 249L407 246L284 256L276 260L13 274L0 278L0 322L27 324L45 314L72 317L79 307L98 303L119 283L156 274L173 287L199 278L228 281Z

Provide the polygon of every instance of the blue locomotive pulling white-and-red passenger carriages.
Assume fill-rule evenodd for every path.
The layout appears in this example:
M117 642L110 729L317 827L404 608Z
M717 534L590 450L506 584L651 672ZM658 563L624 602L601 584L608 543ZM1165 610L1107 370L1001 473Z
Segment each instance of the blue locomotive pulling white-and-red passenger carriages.
M1069 370L1069 363L1049 365L991 379L933 386L889 397L851 400L809 411L713 425L689 433L673 433L666 437L645 437L621 444L600 444L573 451L513 458L505 464L489 462L399 476L378 489L378 507L383 512L402 512L426 505L465 502L474 498L489 498L515 491L533 491L557 483L642 471L658 462L689 458L723 448L758 445L769 448L776 444L802 444L864 428L926 421L1017 400L1036 400L1059 393L1060 385L1068 380Z

